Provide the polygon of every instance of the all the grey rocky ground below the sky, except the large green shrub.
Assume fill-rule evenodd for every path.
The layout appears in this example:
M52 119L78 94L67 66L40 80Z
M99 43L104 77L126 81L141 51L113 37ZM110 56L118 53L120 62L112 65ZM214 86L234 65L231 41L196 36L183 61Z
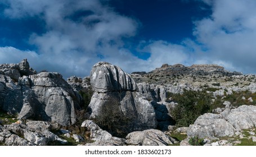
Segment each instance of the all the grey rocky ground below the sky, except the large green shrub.
M184 90L212 95L212 110L177 127L173 94ZM0 65L0 145L256 145L255 92L255 75L215 64L129 75L99 62L65 81L24 59Z

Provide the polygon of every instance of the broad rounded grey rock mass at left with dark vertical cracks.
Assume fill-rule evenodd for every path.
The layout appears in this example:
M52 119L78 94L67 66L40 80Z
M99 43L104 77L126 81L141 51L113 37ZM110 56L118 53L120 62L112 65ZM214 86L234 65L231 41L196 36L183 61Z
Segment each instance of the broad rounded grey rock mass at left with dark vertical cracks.
M52 121L64 126L75 123L75 109L80 98L59 73L19 77L18 85L9 82L11 85L1 85L3 90L0 91L7 93L2 104L6 112L19 113L20 119Z

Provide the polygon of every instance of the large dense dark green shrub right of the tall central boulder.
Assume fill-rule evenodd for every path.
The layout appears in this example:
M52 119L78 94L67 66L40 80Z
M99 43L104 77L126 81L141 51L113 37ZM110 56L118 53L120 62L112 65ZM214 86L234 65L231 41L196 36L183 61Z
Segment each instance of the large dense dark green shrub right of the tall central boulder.
M212 96L205 91L185 90L183 94L174 94L172 99L178 103L170 111L177 127L188 127L201 114L210 112Z

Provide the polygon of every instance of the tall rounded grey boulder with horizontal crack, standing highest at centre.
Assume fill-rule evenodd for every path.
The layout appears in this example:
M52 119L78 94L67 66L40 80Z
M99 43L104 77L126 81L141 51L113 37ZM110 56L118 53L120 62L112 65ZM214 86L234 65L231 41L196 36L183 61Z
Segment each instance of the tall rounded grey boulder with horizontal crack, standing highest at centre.
M89 104L92 118L99 116L101 107L114 98L120 101L120 114L135 115L133 126L129 127L131 131L156 128L154 108L138 93L138 87L128 73L110 63L98 62L92 67L90 80L95 90Z

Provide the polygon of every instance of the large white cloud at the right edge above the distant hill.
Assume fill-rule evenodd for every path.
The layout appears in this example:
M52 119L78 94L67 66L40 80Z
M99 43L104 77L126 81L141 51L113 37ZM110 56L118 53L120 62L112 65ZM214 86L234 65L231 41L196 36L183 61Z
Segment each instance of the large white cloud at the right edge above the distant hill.
M209 3L208 3L209 4ZM195 22L194 35L207 48L212 63L226 62L232 70L255 71L256 1L212 1L212 15Z

